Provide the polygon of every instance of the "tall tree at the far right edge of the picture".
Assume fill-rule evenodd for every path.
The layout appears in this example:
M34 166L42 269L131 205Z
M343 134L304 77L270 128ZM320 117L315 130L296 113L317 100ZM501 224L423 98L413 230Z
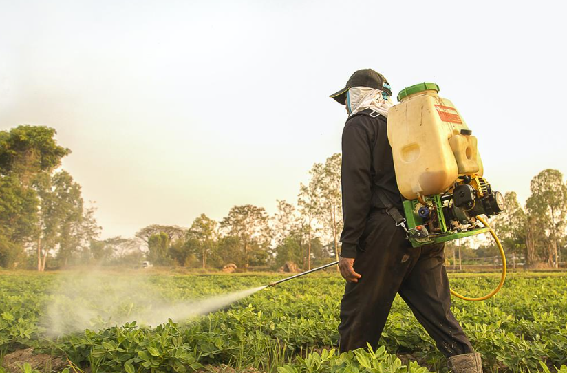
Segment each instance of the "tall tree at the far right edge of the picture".
M531 249L539 248L546 262L557 268L559 245L564 239L567 224L567 186L561 172L545 169L531 180L530 190L526 208L530 215L528 233ZM542 239L539 243L534 240L538 235Z

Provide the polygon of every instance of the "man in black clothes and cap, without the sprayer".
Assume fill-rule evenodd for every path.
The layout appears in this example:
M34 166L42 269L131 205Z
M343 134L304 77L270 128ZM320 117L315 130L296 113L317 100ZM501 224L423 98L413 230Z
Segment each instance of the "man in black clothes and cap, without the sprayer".
M374 348L396 293L447 356L457 373L482 372L480 354L451 312L443 244L412 248L389 214L403 211L387 138L392 90L374 70L354 72L331 97L346 105L343 129L344 228L341 275L347 280L341 301L341 351ZM387 208L388 206L388 208Z

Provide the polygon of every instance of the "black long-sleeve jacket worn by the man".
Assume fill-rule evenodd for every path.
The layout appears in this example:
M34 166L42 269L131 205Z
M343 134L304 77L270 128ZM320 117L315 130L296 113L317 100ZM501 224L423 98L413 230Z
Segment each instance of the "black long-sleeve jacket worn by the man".
M341 233L341 257L355 258L368 215L374 209L385 208L376 194L377 189L403 211L392 147L388 142L387 118L370 109L353 114L345 123L341 187L345 224Z

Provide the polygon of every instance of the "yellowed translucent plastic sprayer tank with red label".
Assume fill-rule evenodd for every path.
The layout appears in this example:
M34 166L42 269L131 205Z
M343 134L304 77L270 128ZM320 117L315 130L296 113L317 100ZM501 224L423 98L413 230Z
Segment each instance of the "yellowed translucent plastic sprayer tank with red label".
M477 139L435 83L403 89L388 112L396 180L402 195L444 193L460 175L482 176Z

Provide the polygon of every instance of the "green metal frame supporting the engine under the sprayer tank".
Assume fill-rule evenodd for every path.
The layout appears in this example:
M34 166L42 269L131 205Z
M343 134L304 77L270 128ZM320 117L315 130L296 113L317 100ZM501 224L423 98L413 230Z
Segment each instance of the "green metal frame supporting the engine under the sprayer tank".
M447 223L445 222L445 216L443 215L443 204L441 201L441 196L436 194L431 197L425 198L426 202L431 202L436 206L437 216L439 218L441 233L429 234L425 238L409 238L411 246L420 247L428 244L437 244L439 242L452 241L453 239L460 239L464 237L471 237L473 235L480 235L482 233L488 233L490 228L481 227L473 228L469 231L453 232L447 230ZM412 231L418 225L423 224L423 219L418 215L417 205L420 204L418 200L405 200L403 202L405 220L407 221L407 228Z

